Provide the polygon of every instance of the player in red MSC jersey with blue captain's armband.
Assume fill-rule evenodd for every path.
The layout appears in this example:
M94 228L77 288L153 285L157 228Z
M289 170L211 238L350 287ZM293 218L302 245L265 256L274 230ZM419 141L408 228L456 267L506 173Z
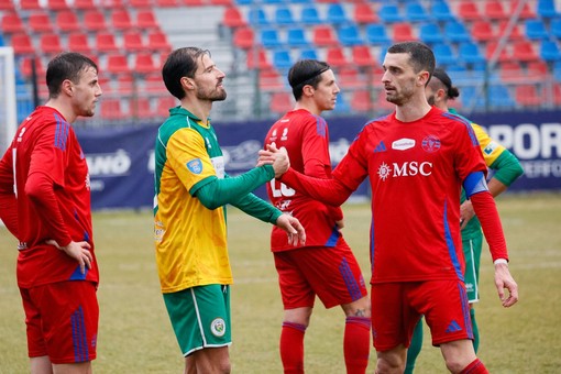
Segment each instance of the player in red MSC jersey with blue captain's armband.
M363 128L333 170L333 179L288 169L282 182L339 206L370 177L372 188L372 329L376 373L403 373L407 346L425 315L432 344L452 373L487 373L471 339L460 237L460 188L481 221L495 264L495 285L504 307L518 300L486 166L469 121L431 107L425 86L435 55L425 44L391 46L383 63L389 116ZM261 151L270 163L283 151ZM508 293L505 292L508 290Z

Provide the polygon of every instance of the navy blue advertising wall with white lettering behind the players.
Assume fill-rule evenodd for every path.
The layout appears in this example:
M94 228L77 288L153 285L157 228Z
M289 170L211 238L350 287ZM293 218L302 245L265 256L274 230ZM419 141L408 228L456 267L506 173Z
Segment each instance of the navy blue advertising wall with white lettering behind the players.
M561 191L561 111L473 114L492 138L521 162L525 175L509 190ZM369 121L364 117L329 119L333 165ZM154 196L154 142L160 124L131 124L117 129L77 129L88 160L95 209L151 208ZM215 122L226 156L227 173L237 175L255 165L271 121ZM265 188L255 194L266 197ZM367 198L366 184L353 195Z

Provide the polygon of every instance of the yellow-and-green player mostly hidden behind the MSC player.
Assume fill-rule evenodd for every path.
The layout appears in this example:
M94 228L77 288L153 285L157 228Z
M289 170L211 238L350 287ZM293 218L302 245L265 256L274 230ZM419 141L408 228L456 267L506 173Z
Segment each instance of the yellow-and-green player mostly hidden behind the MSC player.
M459 97L460 91L455 86L452 86L452 80L443 69L435 69L432 78L426 87L426 95L430 105L459 116L453 108L448 107L448 100L453 100ZM471 122L470 120L468 121L471 123L473 131L477 136L485 164L494 172L493 177L487 182L487 186L491 195L493 195L493 197L497 197L524 174L524 169L520 162L513 153L494 141L482 127ZM473 348L475 349L475 352L477 352L477 348L480 345L480 333L477 322L475 321L475 309L473 308L473 304L480 300L477 285L480 279L480 258L483 246L483 233L480 220L475 217L471 201L465 198L465 191L463 189L460 217L462 248L465 256L465 289L468 292L468 300L470 301L470 317L472 320L474 336ZM421 350L421 322L422 320L417 323L411 339L411 344L407 351L406 374L413 373L415 360Z

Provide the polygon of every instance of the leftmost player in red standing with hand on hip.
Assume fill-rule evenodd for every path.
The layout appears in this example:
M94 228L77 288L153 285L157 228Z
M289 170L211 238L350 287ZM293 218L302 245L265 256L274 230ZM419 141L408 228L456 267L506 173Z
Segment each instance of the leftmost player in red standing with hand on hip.
M99 282L86 158L70 125L91 117L98 68L63 53L46 72L48 100L19 127L0 161L0 218L19 241L31 373L91 373Z

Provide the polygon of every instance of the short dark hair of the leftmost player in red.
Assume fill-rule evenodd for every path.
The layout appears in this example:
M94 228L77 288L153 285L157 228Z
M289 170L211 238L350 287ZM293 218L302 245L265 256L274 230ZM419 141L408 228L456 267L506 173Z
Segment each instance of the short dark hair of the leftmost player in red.
M98 72L94 61L76 52L63 52L48 62L46 70L46 85L48 97L57 98L61 95L63 81L69 79L74 84L80 80L80 74L88 67Z

